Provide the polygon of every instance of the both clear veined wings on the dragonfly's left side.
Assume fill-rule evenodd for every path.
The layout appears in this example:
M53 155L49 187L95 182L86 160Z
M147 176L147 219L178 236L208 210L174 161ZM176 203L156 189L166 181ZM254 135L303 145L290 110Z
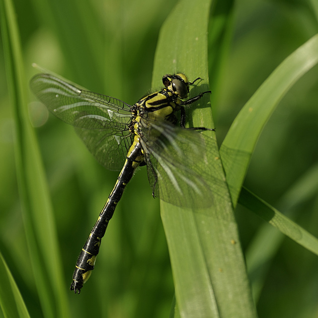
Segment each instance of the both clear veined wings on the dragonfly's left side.
M132 142L129 104L81 89L51 74L34 76L30 86L56 117L76 127L79 137L102 165L110 170L122 168Z

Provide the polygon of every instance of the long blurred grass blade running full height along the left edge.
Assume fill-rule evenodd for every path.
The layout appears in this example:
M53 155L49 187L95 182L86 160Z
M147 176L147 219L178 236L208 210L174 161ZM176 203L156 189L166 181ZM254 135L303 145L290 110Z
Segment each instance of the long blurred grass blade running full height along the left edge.
M44 317L69 317L51 203L27 114L28 84L14 10L10 0L0 3L6 76L15 120L16 173L31 266Z

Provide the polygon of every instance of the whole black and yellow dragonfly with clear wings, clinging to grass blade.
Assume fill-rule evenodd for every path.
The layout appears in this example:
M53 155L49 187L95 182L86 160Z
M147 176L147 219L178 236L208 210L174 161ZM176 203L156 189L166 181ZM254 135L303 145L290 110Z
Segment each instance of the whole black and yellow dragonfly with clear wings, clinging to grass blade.
M209 206L211 193L197 168L204 161L205 139L185 128L184 106L210 91L188 97L184 74L165 75L164 87L129 105L117 98L93 93L52 74L30 81L34 94L64 122L73 125L88 150L110 170L121 172L84 244L73 274L71 290L79 293L94 269L108 222L138 166L147 165L153 196L182 207ZM180 111L180 126L175 113ZM171 191L171 185L174 191Z

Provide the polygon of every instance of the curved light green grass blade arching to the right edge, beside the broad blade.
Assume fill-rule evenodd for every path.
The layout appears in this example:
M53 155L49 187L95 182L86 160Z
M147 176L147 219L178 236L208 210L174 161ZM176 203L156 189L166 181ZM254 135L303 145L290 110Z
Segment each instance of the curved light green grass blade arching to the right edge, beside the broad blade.
M234 120L220 148L234 206L264 125L286 92L317 63L318 35L315 35L276 68Z

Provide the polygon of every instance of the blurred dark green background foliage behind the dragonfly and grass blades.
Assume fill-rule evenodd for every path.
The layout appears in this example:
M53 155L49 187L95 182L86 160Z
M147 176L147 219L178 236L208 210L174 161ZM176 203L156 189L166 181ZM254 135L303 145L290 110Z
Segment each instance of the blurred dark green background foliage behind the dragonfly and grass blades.
M15 0L28 79L37 72L31 67L36 62L90 90L134 103L151 86L159 28L175 3ZM225 12L232 6L230 0L215 3L214 26L222 25ZM209 61L210 74L219 74L218 82L211 83L219 145L259 85L285 57L318 32L315 0L243 0L235 3L230 14L232 23L226 34L229 44L217 64ZM258 141L246 176L245 186L281 212L289 208L289 201L283 200L288 191L317 166L317 71L315 67L306 74L281 101ZM0 50L0 74L4 72ZM63 275L71 283L79 247L118 172L99 166L72 127L48 116L31 93L29 100L52 195ZM30 316L41 317L28 265L8 105L6 79L2 76L0 250ZM293 208L293 219L318 236L317 189L313 192ZM243 248L248 251L263 231L264 222L240 206L236 216ZM151 196L146 169L141 168L127 187L102 246L98 270L82 294L68 294L72 317L167 317L173 282L159 200ZM259 317L317 315L317 268L317 255L290 239L278 240L257 303Z

